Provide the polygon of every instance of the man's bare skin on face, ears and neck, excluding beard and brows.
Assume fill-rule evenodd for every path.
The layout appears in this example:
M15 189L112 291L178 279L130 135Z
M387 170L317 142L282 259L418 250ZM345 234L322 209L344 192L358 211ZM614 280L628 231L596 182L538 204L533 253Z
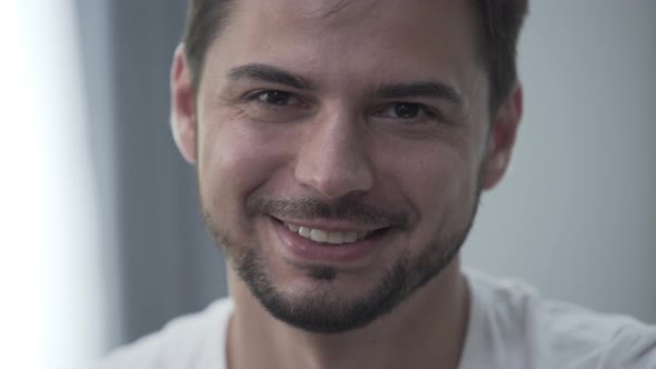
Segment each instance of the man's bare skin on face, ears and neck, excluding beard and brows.
M274 318L238 270L257 255L287 302L307 307L305 297L321 297L315 300L338 308L368 296L402 258L414 266L457 250L459 242L447 240L466 235L479 192L503 177L521 112L518 86L498 111L487 110L475 22L463 1L237 0L229 26L208 50L197 93L178 48L173 136L197 167L206 220L229 256L236 305L230 368L457 367L469 308L457 256L389 313L331 335ZM307 86L235 77L236 68L252 63ZM380 93L385 86L425 81L456 98ZM285 92L284 99L261 93L270 90ZM399 102L426 110L404 119ZM254 199L328 206L348 199L405 221L382 217L371 226L355 216L262 213L249 208ZM305 260L285 251L278 220L388 230L361 258ZM330 268L334 278L312 277L311 268ZM418 281L410 276L407 283Z

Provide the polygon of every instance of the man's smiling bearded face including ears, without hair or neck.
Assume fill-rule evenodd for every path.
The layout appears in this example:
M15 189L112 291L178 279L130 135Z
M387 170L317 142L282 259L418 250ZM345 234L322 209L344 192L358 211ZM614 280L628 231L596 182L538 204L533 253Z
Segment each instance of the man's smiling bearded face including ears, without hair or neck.
M467 2L337 3L237 0L197 93L180 50L172 86L233 270L320 332L367 325L449 266L516 126L501 108L490 132Z

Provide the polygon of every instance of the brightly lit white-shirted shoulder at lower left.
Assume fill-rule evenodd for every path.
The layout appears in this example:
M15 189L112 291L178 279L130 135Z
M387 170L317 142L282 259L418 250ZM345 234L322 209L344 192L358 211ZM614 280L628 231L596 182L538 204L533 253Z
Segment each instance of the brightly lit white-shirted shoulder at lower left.
M171 320L160 331L121 347L102 359L101 369L221 368L229 299L217 300L201 312Z

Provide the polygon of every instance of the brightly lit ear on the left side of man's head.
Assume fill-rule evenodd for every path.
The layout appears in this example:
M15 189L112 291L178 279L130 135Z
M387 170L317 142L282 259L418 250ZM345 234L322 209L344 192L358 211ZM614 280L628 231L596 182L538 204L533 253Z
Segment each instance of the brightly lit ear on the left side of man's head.
M191 70L180 43L171 67L171 130L178 150L189 163L196 163L196 96Z

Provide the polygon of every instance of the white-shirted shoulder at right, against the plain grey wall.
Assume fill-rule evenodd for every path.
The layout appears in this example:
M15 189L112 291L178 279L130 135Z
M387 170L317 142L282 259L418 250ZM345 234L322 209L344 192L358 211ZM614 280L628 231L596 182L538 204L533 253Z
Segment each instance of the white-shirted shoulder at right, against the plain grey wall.
M547 300L521 281L473 271L466 276L473 291L470 325L477 330L470 332L485 337L468 337L468 341L500 363L523 368L656 368L655 326Z

